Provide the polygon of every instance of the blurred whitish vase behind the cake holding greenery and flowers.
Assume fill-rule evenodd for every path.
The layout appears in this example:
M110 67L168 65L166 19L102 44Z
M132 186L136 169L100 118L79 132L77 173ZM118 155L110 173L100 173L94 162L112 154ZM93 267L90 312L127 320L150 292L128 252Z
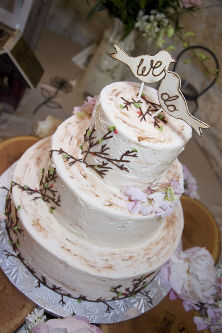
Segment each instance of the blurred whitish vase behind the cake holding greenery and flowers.
M132 30L122 39L123 29L124 25L119 19L111 20L110 27L105 30L94 56L76 84L81 96L99 95L106 85L123 79L126 65L110 57L111 53L115 53L113 43L117 43L127 53L134 49L135 31Z

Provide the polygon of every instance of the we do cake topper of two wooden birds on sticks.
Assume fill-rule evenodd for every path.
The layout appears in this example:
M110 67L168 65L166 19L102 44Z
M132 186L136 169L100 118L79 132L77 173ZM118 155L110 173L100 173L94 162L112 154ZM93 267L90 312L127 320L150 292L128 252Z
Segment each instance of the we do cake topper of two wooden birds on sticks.
M158 99L162 109L157 110L150 117L164 110L172 117L184 120L199 136L202 136L201 128L209 128L209 126L189 113L185 97L180 90L181 79L178 74L168 71L170 64L176 62L170 52L160 50L153 56L131 57L119 45L113 44L113 46L116 53L110 56L129 66L132 73L142 81L138 98L142 94L144 82L155 83L162 79L158 89Z

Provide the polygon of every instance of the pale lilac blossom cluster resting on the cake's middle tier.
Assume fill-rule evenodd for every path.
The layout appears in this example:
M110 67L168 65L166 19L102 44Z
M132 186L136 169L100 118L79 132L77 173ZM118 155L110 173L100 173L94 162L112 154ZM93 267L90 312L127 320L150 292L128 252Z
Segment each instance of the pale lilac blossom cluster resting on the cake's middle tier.
M142 213L145 216L155 213L155 216L161 216L162 219L173 212L182 193L184 186L173 178L169 183L150 184L145 192L133 185L121 190L122 198L129 201L127 209L131 213Z

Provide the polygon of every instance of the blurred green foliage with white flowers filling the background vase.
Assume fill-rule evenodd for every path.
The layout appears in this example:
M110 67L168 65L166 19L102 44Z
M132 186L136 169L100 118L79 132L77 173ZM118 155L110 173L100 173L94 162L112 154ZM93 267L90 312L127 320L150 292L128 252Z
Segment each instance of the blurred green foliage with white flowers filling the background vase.
M95 12L107 9L110 17L119 18L123 22L123 38L132 29L136 29L147 38L148 43L155 41L156 47L166 43L165 37L171 38L174 35L183 40L187 47L184 38L195 34L186 32L182 37L184 28L179 25L179 16L185 12L193 13L201 5L202 0L99 0L89 11L87 19Z

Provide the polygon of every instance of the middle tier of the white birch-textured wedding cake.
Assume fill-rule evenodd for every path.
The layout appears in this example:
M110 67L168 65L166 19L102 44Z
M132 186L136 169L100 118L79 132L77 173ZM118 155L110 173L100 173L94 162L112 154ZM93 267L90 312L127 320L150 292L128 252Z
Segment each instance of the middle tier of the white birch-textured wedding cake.
M53 215L59 224L83 241L109 248L142 244L157 232L163 220L156 213L132 214L119 187L104 184L103 178L82 162L79 138L88 120L72 116L52 137L43 179L49 170L56 170L53 190L60 201L58 206L48 202L48 209L56 208ZM171 178L183 184L182 166L177 159L162 181Z

